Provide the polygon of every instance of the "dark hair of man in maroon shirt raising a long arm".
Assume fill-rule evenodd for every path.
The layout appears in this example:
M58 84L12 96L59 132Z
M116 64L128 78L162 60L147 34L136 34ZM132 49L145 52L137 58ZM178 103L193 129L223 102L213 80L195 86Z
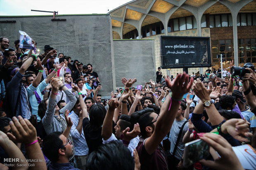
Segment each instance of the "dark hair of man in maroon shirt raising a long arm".
M140 134L143 138L146 137L146 127L148 124L152 123L153 117L150 117L150 114L154 112L152 108L144 108L130 115L131 124L140 124ZM154 128L154 124L150 124Z

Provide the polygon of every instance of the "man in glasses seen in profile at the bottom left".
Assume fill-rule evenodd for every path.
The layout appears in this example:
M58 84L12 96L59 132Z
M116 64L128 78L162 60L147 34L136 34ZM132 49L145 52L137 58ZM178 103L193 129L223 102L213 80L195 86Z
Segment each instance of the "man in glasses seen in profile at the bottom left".
M54 144L54 145L53 145ZM61 132L53 132L43 140L43 154L50 160L47 161L48 170L79 170L69 163L69 158L73 156L72 141L62 135Z

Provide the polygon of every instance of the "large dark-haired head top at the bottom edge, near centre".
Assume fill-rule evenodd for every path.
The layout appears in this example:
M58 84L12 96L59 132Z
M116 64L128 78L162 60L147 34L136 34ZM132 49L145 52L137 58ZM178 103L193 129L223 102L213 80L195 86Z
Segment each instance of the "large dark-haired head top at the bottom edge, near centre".
M88 156L87 170L134 170L133 157L118 140L101 145Z

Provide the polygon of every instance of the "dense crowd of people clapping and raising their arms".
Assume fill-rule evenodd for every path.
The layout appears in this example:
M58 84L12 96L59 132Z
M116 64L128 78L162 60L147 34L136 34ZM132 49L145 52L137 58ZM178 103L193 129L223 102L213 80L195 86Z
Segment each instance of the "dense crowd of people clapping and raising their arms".
M256 169L254 70L163 80L159 67L156 83L123 77L103 100L92 64L49 45L42 54L14 47L0 37L0 169ZM197 139L205 144L187 151Z

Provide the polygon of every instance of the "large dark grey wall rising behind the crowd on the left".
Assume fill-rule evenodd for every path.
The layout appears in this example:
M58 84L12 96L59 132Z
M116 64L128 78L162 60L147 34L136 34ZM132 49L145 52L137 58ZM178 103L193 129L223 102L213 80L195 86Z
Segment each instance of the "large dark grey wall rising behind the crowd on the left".
M104 15L59 15L52 16L1 17L1 21L15 20L16 23L1 23L0 36L8 37L10 46L19 39L19 30L26 32L43 47L50 45L58 53L69 55L72 60L92 64L102 83L100 94L109 96L115 89L114 53L111 17Z

